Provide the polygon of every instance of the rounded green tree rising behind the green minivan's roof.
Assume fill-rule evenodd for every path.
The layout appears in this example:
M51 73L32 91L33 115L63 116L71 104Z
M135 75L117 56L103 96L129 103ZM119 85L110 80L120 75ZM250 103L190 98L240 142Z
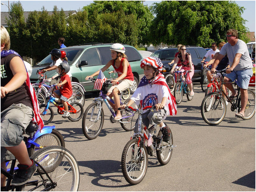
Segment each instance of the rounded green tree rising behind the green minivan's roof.
M105 31L109 36L112 36L111 32L116 33L111 42L122 40L120 43L128 43L130 45L145 45L149 43L149 26L153 15L141 1L94 1L94 3L84 6L83 10L88 12L91 25L96 25L96 28L99 26L97 24L106 25ZM115 20L110 20L109 18L111 17ZM120 24L126 26L121 27ZM111 30L110 28L113 29ZM104 30L102 29L102 31ZM124 37L128 40L124 40ZM132 38L136 38L136 40Z

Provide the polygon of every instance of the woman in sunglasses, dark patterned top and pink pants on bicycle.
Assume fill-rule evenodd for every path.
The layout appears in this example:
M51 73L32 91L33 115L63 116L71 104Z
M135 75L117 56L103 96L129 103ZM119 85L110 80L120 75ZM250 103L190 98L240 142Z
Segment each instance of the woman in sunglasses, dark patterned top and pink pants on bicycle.
M191 55L186 52L186 46L181 45L180 47L180 53L178 54L178 57L176 58L173 68L171 70L171 73L173 73L177 63L180 61L181 62L181 71L184 72L185 70L188 71L187 79L186 82L188 84L189 89L191 90L190 96L194 96L194 90L192 86L192 77L194 75L194 65L192 63Z

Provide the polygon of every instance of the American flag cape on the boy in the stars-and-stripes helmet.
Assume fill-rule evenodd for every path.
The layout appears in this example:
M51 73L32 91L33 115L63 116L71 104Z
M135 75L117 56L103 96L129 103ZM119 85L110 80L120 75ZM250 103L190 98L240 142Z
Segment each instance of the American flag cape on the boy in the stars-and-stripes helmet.
M162 85L162 86L166 86L168 88L168 91L169 91L169 94L168 94L168 100L169 100L168 108L169 108L170 115L175 116L177 114L176 99L172 95L163 74L159 73L159 75L152 81L152 83ZM143 78L141 78L138 87L145 86L147 84L148 84L148 80L146 79L146 76L144 76Z

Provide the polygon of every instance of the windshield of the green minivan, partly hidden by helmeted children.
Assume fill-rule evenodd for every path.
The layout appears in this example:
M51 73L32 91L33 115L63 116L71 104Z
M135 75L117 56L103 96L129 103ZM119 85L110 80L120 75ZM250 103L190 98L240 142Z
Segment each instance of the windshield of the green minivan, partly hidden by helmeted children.
M68 58L68 65L71 65L82 52L82 49L74 49L74 48L66 48L61 50L66 52L66 57ZM40 61L39 64L37 65L50 65L52 62L53 60L51 58L51 55L48 55L46 58Z

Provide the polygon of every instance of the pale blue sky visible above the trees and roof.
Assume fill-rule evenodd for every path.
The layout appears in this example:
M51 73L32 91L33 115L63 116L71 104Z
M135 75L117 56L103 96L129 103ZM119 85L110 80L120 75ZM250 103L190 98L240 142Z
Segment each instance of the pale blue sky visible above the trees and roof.
M9 1L9 5L14 1ZM17 1L15 1L17 2ZM20 1L24 11L40 11L44 6L46 10L52 11L53 6L57 5L58 9L63 8L64 11L68 10L81 10L83 6L93 3L93 1ZM144 5L150 6L153 3L159 3L161 1L145 1ZM245 26L249 28L249 31L255 31L255 0L252 1L235 1L239 6L245 8L242 17L247 20ZM8 11L8 1L1 1L6 5L1 5L1 11Z

